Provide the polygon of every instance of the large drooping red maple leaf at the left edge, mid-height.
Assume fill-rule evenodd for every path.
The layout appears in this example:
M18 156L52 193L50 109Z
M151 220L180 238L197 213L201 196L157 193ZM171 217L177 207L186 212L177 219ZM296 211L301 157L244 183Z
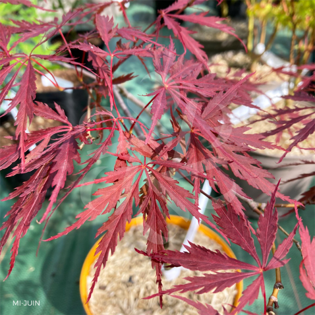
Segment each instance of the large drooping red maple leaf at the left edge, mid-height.
M29 180L3 199L9 200L18 197L18 201L6 214L6 216L9 216L8 220L0 227L0 230L5 229L0 242L1 251L13 228L16 226L12 235L12 237L15 237L15 240L11 250L12 256L8 275L14 266L20 239L26 234L31 221L41 210L47 189L49 186L55 186L42 221L45 220L47 214L51 211L52 204L56 201L60 189L64 187L66 176L73 173L73 159L79 162L75 139L82 135L85 128L72 127L59 105L55 104L55 108L56 111L53 111L44 103L38 102L34 104L35 114L60 121L66 126L51 127L26 134L26 139L23 142L25 151L34 146L34 144L37 144L37 146L25 156L24 163L18 164L8 175L13 176L18 173L27 173L35 170L34 175ZM52 136L60 136L60 134L62 135L61 137L49 144ZM19 158L18 148L18 143L0 148L2 168L10 166Z

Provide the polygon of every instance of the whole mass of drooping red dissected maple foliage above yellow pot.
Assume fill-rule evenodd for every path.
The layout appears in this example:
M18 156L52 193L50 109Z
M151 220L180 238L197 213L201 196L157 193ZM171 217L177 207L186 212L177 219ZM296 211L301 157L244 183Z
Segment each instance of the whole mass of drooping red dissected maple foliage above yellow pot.
M6 2L32 6L27 0ZM264 140L270 133L248 134L250 127L236 128L229 121L231 104L257 108L252 104L250 97L250 91L257 90L256 85L250 81L251 75L241 80L233 80L219 78L215 73L211 73L203 46L193 39L191 36L193 32L180 23L180 21L197 23L236 36L233 29L227 26L222 18L208 16L207 12L200 11L185 14L185 8L194 7L202 2L204 0L176 1L167 9L160 11L154 24L147 30L131 25L128 20L128 10L125 10L125 1L88 4L65 14L61 21L57 19L36 23L12 21L13 26L0 25L2 87L0 103L9 100L5 113L9 113L15 107L18 108L16 134L12 137L16 140L16 144L0 149L0 169L7 169L12 163L18 162L9 176L34 172L29 180L4 199L17 198L6 215L7 221L1 226L4 234L0 249L9 237L14 237L8 275L14 266L20 239L26 234L30 223L33 220L46 223L73 189L91 183L85 182L84 178L95 162L101 156L111 154L117 158L112 170L105 173L101 179L93 181L93 183L105 182L108 185L94 193L96 198L77 215L77 221L73 225L58 235L48 238L52 240L65 235L82 226L87 220L94 220L98 216L112 212L96 235L103 237L96 250L100 255L95 265L96 272L90 294L101 268L106 266L109 253L115 252L118 240L124 237L126 222L130 222L133 208L138 208L138 214L143 215L144 232L149 231L147 250L142 254L152 259L152 267L156 270L158 283L157 295L160 296L161 305L163 294L187 290L197 290L197 293L212 289L221 291L250 276L258 277L249 288L245 289L240 304L233 312L241 311L248 303L252 304L257 299L260 289L266 300L263 272L282 267L287 262L283 259L291 247L298 226L300 226L303 254L303 262L300 266L301 280L308 290L308 296L315 298L313 286L315 273L310 259L312 248L314 251L314 240L311 242L308 230L300 219L295 229L279 245L273 258L268 262L277 231L277 211L273 210L275 197L289 203L294 203L294 200L281 194L278 186L270 183L268 179L271 179L272 175L249 154L255 149L279 149L276 144ZM113 18L102 14L110 5L117 5L120 8L126 26L119 27L115 25ZM14 47L19 43L41 36L42 40L38 45L42 45L55 35L62 34L64 28L71 29L87 21L93 23L94 30L82 35L79 40L73 42L65 40L56 53L14 52ZM169 45L161 44L160 34L163 28L172 32ZM10 41L12 35L19 35L19 40L12 43ZM104 49L91 43L95 38L104 42ZM175 42L182 45L183 54L177 52ZM114 49L113 43L116 45ZM82 60L74 59L71 53L69 56L65 55L64 52L68 52L70 48L84 51L93 69L87 68ZM187 58L188 51L191 53L189 58ZM120 106L120 100L115 92L118 85L133 80L137 75L136 73L116 75L118 69L124 69L124 64L130 61L131 56L137 58L139 67L147 69L149 64L153 65L155 73L160 78L160 86L146 94L147 104L144 109L148 108L152 117L147 123L140 119L144 109L137 117L128 116ZM37 92L36 73L49 73L42 64L44 60L52 63L67 63L77 70L82 88L90 93L88 112L92 113L87 114L82 124L72 126L58 104L55 104L55 108L50 108L44 103L34 101ZM93 78L92 82L86 83L82 80L83 73L87 72ZM56 81L52 82L58 87ZM18 89L10 98L8 92L13 87ZM314 105L314 97L307 94L305 86L300 86L294 95L288 97L312 102ZM110 105L107 108L102 106L103 103L101 104L104 99ZM312 106L308 105L307 108ZM282 109L277 113L280 119L277 120L277 128L271 133L280 133L297 122L303 126L292 135L294 141L290 147L287 150L282 149L283 157L300 141L314 133L314 119L311 114L300 115L300 112L303 112L303 108L296 107ZM173 131L158 135L156 127L163 115L169 115ZM60 125L27 133L34 116L58 121ZM262 116L262 119L270 118L274 118L274 115ZM113 153L109 149L116 135L119 143L116 152ZM91 145L92 142L97 144L96 148L94 146L95 150L87 160L82 160L80 148L83 145ZM74 173L74 161L81 166L81 170L75 174L74 181L66 184L69 176ZM247 181L251 186L271 196L265 214L259 219L257 231L251 227L240 201L248 196L226 171L232 172L235 177ZM180 186L179 181L174 178L175 173L181 174L191 183L191 192ZM217 213L214 216L216 224L198 211L200 185L204 180L208 180L211 187L222 194L221 199L212 199ZM44 215L39 218L38 213L42 209L48 188L51 189L49 204ZM307 200L314 198L311 190L308 194ZM166 217L169 217L168 205L171 202L182 211L188 211L198 220L211 225L226 239L239 245L255 259L256 265L229 258L192 243L186 247L185 253L165 251L163 242L168 236ZM255 250L252 235L258 238L262 260ZM163 291L162 263L181 265L191 270L240 269L249 272L215 273L199 278L188 278L189 283ZM194 305L200 314L217 314L209 305L205 306L189 300L187 302Z

